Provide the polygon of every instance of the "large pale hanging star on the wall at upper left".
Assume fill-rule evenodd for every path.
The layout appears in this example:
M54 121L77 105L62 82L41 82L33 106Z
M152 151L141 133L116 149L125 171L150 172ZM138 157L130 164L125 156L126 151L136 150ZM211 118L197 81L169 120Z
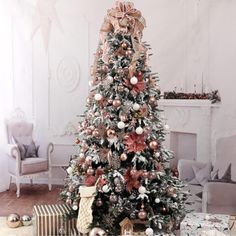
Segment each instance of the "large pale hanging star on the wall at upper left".
M33 16L33 30L31 39L34 38L38 30L40 29L46 52L48 52L52 23L55 23L57 27L62 31L62 27L55 9L55 4L57 1L58 0L37 0L35 14Z

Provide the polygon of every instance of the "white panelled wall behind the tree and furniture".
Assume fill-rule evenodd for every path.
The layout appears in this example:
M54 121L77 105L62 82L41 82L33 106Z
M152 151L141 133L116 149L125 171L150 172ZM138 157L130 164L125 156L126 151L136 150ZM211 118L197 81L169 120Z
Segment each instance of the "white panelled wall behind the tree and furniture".
M15 11L8 8L8 15L0 14L4 17L4 23L0 21L3 25L0 27L1 47L5 50L5 54L1 53L1 65L6 65L1 71L1 81L4 78L7 86L3 89L7 92L1 93L4 96L1 120L10 108L19 106L28 117L36 120L37 138L44 142L52 140L61 148L73 143L73 135L67 135L66 131L73 128L71 124L76 128L76 115L83 113L89 66L97 47L99 28L107 9L115 1L58 0L55 9L62 30L52 23L48 53L45 53L40 30L33 40L30 38L35 1L13 1L13 5L17 2L21 5L15 7ZM153 71L159 72L162 90L176 87L177 91L192 92L194 84L199 92L219 89L222 104L212 124L213 142L218 137L236 133L233 86L236 1L133 2L147 21L144 40L152 46L154 56L150 64ZM9 105L6 106L5 101L9 101ZM66 158L60 153L56 158ZM1 158L4 159L3 153ZM62 178L58 173L57 176Z

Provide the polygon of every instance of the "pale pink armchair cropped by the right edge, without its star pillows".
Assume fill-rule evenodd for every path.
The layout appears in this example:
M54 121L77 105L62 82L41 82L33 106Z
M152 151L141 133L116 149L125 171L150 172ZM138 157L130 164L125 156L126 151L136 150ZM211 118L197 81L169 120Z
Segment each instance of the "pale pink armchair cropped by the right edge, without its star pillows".
M227 171L229 164L232 165L228 180L207 182L204 186L189 184L192 195L202 192L202 212L213 214L236 214L236 135L223 137L216 143L216 160L213 164L213 172L218 173L219 179ZM194 178L194 166L204 167L204 163L181 159L178 163L179 177L187 183ZM210 173L209 173L210 175ZM196 191L197 190L197 191Z

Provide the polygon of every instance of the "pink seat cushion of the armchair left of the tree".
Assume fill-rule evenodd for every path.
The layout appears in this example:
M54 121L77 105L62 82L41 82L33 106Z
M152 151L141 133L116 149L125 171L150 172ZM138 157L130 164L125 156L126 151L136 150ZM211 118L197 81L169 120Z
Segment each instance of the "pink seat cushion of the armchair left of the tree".
M31 174L48 170L48 160L45 158L26 158L21 162L21 174Z

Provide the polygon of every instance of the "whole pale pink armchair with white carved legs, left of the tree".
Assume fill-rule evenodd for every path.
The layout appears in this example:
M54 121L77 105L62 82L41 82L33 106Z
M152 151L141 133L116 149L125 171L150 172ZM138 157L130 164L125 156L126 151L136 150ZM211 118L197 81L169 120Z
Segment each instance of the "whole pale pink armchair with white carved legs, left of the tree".
M52 188L51 154L54 147L52 143L38 146L33 139L33 130L34 124L28 122L24 115L18 114L6 120L8 171L10 184L15 178L17 197L20 197L20 183L25 178L33 184L33 179L46 176L49 191Z

